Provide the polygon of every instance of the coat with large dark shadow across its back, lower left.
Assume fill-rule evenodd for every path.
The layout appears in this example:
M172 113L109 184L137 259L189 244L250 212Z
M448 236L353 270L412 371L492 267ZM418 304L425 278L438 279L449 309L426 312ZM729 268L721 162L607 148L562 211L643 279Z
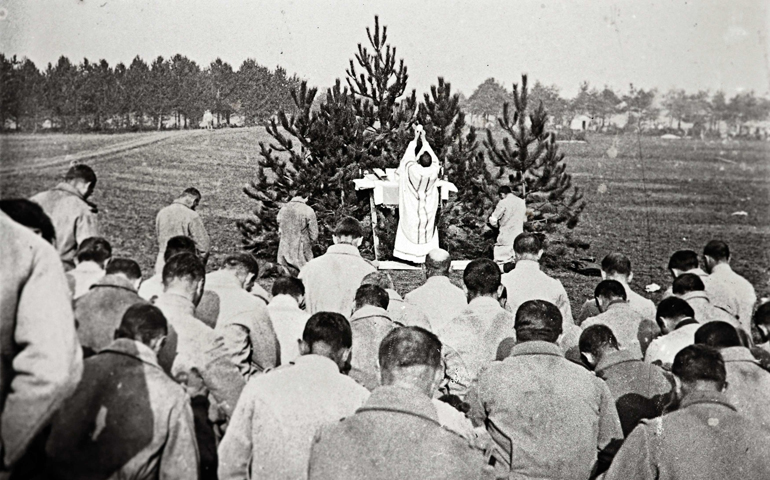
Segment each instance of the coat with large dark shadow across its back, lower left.
M146 345L119 339L85 361L57 414L46 452L55 478L198 476L190 398Z

